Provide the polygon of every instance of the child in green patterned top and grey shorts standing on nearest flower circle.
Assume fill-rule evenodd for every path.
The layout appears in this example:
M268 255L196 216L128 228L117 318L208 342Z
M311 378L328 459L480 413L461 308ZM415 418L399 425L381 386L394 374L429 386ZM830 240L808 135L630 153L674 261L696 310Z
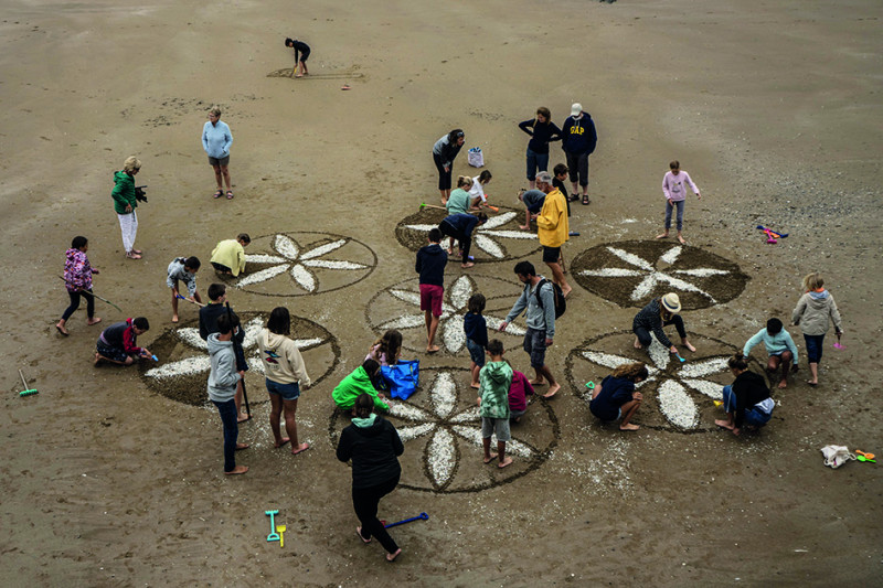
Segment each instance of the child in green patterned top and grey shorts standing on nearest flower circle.
M488 343L490 362L479 372L478 405L481 415L481 445L485 449L485 463L500 458L498 468L512 463L506 455L506 442L512 437L509 432L509 388L512 385L512 367L503 361L503 344L499 339ZM497 434L497 452L490 452L490 438Z

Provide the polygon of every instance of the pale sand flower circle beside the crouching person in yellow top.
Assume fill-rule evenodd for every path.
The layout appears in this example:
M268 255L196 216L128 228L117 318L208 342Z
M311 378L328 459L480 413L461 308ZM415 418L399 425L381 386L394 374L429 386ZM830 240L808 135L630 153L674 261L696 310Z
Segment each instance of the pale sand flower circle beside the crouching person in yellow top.
M233 286L265 296L330 292L365 279L377 256L364 243L330 233L279 233L252 240L247 274Z

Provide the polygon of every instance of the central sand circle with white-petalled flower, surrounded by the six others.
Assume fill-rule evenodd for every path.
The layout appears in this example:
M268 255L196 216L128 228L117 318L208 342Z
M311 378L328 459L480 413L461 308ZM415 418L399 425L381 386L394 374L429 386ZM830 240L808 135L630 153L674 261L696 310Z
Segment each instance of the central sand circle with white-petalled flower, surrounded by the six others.
M445 278L445 300L435 338L436 344L442 348L440 353L456 354L466 348L462 320L469 310L469 298L476 292L481 292L487 299L483 317L488 323L488 339L499 338L510 350L521 346L525 333L523 327L510 323L502 333L497 331L521 295L514 275L512 277L509 281L472 274ZM405 349L415 352L426 350L426 323L421 310L417 278L398 282L374 295L365 307L365 320L377 335L387 329L397 329L402 331ZM517 320L523 321L524 318L522 316Z

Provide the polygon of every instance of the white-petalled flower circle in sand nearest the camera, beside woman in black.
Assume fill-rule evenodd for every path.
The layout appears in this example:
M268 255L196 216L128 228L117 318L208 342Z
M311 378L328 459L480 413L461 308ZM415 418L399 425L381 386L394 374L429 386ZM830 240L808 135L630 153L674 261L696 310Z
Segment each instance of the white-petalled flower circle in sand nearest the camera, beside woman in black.
M558 439L558 424L547 403L532 397L521 423L512 424L506 443L513 463L500 469L483 462L481 419L469 387L466 368L422 370L421 386L407 400L391 400L386 418L405 443L401 485L428 492L479 492L535 471L549 458ZM337 447L350 417L336 410L329 435ZM491 439L496 452L497 438Z

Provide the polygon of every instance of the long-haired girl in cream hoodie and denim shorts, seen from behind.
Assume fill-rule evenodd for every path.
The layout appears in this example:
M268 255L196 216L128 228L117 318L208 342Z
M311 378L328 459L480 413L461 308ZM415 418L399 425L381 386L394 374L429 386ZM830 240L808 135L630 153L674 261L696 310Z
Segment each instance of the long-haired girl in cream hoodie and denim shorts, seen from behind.
M310 376L304 365L295 342L288 339L291 333L291 317L285 307L276 307L269 313L267 328L260 331L257 346L260 350L260 363L267 376L267 392L269 393L269 428L276 439L275 446L285 446L291 442L291 455L297 456L310 448L308 442L298 442L297 438L297 399L300 389L310 387ZM279 432L279 416L285 413L285 431L288 437Z

